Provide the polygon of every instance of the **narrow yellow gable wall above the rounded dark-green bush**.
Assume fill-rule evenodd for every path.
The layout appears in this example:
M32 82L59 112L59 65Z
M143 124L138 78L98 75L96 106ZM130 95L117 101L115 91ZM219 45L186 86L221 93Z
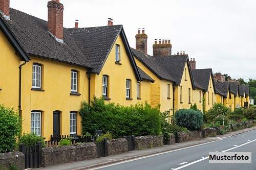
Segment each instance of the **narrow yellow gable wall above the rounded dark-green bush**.
M187 71L186 79L185 79L185 70ZM182 101L181 101L181 86L182 86ZM190 103L188 101L188 88L190 88ZM187 63L185 64L182 78L181 78L181 83L180 85L175 86L175 110L179 109L189 109L192 102L193 102L193 87L191 84L191 79L189 76L189 71L188 71L188 65Z

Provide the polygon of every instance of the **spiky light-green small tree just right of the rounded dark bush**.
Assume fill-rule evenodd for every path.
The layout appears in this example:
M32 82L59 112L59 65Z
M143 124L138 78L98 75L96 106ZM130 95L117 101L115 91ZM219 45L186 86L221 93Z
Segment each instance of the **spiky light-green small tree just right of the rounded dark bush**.
M230 113L230 110L228 107L224 106L222 103L216 103L210 110L208 110L205 114L207 122L215 123L215 120L219 116L227 117Z

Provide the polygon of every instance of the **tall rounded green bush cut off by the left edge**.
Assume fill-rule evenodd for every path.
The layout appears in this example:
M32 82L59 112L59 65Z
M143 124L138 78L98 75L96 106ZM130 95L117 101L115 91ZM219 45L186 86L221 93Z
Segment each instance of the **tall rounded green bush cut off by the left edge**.
M12 152L22 130L22 120L12 108L0 105L0 153Z

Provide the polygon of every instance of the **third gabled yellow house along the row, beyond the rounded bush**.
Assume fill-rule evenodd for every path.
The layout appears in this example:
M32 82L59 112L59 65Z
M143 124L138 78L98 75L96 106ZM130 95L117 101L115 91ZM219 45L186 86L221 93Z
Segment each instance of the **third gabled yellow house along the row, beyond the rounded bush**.
M205 98L205 111L209 110L216 102L216 88L215 88L215 83L214 83L214 77L212 75L212 70L211 68L206 68L206 69L192 69L191 70L196 90L195 93L196 95L202 96L204 95ZM203 103L202 103L202 98L200 97L199 103L198 99L195 101L197 103L198 109L202 109L203 111Z

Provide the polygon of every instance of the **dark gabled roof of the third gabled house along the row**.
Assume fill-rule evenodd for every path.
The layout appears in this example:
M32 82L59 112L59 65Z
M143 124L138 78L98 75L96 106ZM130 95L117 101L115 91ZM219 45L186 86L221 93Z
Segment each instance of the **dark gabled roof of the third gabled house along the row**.
M191 72L192 72L195 86L200 89L203 89L204 91L208 91L210 77L212 81L214 80L211 68L192 69ZM215 83L212 83L212 84L214 86L214 91L216 91Z

